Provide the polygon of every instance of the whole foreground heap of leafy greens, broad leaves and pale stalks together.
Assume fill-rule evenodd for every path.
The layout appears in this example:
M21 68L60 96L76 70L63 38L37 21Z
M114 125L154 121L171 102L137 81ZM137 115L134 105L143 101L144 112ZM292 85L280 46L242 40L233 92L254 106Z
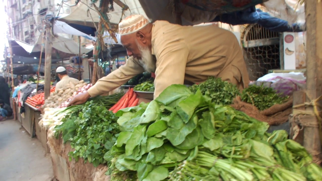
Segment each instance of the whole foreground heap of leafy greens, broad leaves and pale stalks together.
M285 131L266 133L267 123L184 85L116 116L122 132L104 155L111 180L322 179L322 169Z

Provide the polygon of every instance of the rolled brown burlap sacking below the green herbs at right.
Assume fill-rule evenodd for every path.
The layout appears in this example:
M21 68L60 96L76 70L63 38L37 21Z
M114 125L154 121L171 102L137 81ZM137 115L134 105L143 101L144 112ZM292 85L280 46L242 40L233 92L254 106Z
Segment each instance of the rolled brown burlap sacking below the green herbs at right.
M266 110L258 110L254 105L243 102L240 97L233 100L231 105L236 110L245 112L252 118L269 125L280 125L288 121L289 115L292 113L293 98L289 98L284 104L276 104Z

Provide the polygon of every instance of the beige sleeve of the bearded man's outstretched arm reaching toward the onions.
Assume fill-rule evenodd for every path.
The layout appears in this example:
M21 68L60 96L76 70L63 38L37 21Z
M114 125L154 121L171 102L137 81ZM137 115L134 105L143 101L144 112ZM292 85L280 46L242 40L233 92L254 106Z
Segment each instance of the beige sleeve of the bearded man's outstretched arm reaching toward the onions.
M112 71L109 75L100 78L93 87L88 90L91 97L95 97L111 90L118 88L132 77L144 72L144 68L140 63L130 57L125 65L120 66L115 71Z

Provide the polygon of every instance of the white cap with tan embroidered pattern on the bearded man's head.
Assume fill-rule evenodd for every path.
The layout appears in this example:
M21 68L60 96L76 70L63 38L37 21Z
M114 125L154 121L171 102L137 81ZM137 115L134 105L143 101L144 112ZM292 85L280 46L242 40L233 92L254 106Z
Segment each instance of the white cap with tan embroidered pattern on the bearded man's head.
M142 14L135 14L126 17L118 24L118 33L122 35L135 33L149 24L149 20Z

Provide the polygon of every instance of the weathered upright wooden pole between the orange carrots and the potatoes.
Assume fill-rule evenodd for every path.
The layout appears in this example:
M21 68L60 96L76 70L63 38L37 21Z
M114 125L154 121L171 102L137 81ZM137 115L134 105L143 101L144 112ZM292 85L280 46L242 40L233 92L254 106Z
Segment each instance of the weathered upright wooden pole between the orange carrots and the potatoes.
M45 100L50 96L52 76L52 31L51 24L46 24L46 45L45 45Z

